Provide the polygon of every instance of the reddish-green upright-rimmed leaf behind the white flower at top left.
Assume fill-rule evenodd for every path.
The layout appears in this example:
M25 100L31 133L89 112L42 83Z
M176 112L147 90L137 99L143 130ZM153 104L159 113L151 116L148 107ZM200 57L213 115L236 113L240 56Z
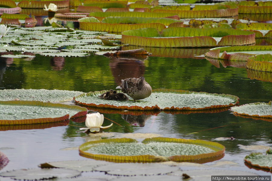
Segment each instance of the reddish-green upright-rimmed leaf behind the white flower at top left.
M69 0L61 1L20 1L18 7L21 8L44 8L44 5L47 7L50 3L57 5L58 8L67 8L70 6Z

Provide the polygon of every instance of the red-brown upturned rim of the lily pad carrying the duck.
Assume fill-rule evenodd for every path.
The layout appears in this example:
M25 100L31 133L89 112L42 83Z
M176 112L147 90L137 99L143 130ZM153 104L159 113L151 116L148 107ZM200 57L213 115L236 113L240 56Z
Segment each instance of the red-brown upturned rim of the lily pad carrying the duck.
M164 109L161 109L160 107L158 107L158 105L155 106L146 106L146 107L140 107L140 106L115 106L115 105L110 105L110 104L95 104L95 103L83 103L80 101L77 101L76 98L80 98L80 97L88 97L90 95L97 95L97 94L102 94L105 93L106 90L103 91L94 91L94 92L89 92L89 93L83 93L80 94L76 97L74 97L74 100L76 102L76 104L79 105L83 105L83 106L87 106L87 107L97 107L97 108L106 108L106 109L118 109L118 110L141 110L141 111L199 111L199 110L211 110L211 109L224 109L226 107L232 107L235 106L237 104L239 104L239 98L237 96L234 95L230 95L230 94L211 94L211 93L206 93L206 92L194 92L194 91L184 91L184 90L174 90L174 89L154 89L152 90L152 92L163 92L163 93L177 93L177 94L194 94L194 93L198 93L198 94L211 94L213 96L223 96L223 97L228 97L233 99L235 102L235 104L230 103L230 104L226 104L226 105L211 105L209 107L201 107L201 108L191 108L191 107L165 107ZM121 91L117 91L117 92L121 92Z

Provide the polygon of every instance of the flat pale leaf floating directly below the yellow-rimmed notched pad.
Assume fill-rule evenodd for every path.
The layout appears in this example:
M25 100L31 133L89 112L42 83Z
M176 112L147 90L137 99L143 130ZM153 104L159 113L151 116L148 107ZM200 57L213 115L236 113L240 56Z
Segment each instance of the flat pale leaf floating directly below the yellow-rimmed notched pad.
M98 166L94 169L100 172L107 172L107 174L110 175L148 176L160 174L164 175L176 171L179 168L155 163L114 163L110 165Z

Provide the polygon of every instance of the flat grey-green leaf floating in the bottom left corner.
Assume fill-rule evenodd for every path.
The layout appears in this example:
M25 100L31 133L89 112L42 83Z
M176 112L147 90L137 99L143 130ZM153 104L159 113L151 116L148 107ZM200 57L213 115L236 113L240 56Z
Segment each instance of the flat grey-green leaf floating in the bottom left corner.
M18 169L0 173L0 176L15 180L44 180L53 178L70 178L79 176L81 172L71 169Z

